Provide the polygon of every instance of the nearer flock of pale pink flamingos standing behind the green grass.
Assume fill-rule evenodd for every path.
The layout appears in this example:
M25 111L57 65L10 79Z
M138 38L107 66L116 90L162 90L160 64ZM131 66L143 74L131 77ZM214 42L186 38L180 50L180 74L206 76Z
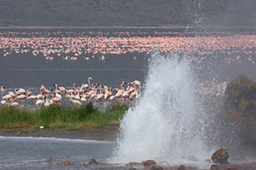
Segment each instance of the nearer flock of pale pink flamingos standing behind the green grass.
M122 82L120 89L107 87L98 83L91 83L92 78L87 79L88 83L82 83L78 87L76 83L73 84L73 89L66 89L60 87L58 84L53 84L54 88L47 89L43 85L40 88L40 93L33 94L33 89L15 89L8 91L2 97L1 105L20 106L27 100L31 106L50 106L52 104L61 104L63 98L69 100L71 105L83 105L87 101L125 101L136 100L140 97L141 82L135 80L133 82ZM5 87L2 86L0 92L5 93ZM30 100L30 101L29 101Z

